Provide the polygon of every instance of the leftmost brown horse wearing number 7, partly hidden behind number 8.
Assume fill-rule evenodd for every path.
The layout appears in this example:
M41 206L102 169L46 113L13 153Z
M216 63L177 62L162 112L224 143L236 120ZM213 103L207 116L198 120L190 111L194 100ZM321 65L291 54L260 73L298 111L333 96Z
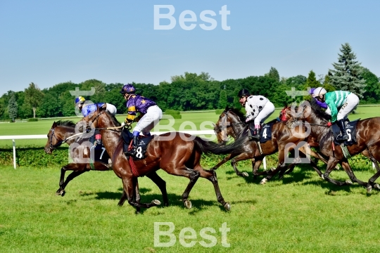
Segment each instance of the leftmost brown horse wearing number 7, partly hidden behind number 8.
M77 138L72 138L77 136ZM71 157L73 160L76 160L75 158L80 157L87 159L90 157L90 150L88 145L82 145L85 141L88 141L86 138L81 138L82 134L75 134L75 123L72 121L58 121L54 122L51 126L51 129L49 130L49 133L47 135L48 141L45 145L45 153L51 154L54 149L61 146L63 143L68 143L68 145L77 142L77 146L73 147L71 151ZM90 171L108 171L112 170L111 164L104 164L103 162L96 162L94 161L93 167L91 168L90 164L88 162L70 162L69 164L63 166L61 168L61 178L59 181L59 188L56 191L56 195L61 195L62 197L65 195L65 187L68 185L68 183L75 179L75 177L80 176L84 172ZM65 172L66 171L72 171L68 175L68 177L65 180ZM151 173L146 175L149 179L151 179L158 188L160 188L161 193L163 194L163 202L165 206L169 205L169 200L167 197L167 191L166 191L166 183L163 179L158 176L156 171L152 171ZM121 203L122 205L122 203Z

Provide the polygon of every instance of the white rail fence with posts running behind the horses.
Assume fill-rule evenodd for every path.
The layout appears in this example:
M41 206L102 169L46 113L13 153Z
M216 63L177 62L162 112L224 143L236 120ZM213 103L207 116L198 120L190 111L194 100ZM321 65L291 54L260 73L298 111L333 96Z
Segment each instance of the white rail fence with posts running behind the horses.
M196 136L202 136L202 135L215 135L215 132L213 130L199 130L199 131L181 131L182 133L196 135ZM152 131L151 134L165 134L167 132L165 131ZM46 134L39 134L39 135L19 135L19 136L0 136L0 140L12 140L13 142L13 167L16 168L16 151L15 151L15 140L21 140L21 139L47 139ZM262 165L264 169L267 169L267 162L264 158L262 161Z

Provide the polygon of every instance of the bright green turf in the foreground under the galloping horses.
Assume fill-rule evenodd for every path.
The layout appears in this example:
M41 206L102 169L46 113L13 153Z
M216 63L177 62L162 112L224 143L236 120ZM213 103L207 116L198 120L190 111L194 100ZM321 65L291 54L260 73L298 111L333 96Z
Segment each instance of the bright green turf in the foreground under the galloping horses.
M189 181L159 171L167 181L170 207L143 209L137 215L127 202L117 206L122 188L113 171L85 173L61 197L55 195L58 168L0 167L0 252L330 253L376 252L379 247L378 191L367 194L356 184L339 188L308 168L297 168L264 186L258 184L260 179L237 177L231 167L217 173L231 212L216 201L213 186L205 179L199 179L191 191L193 208L185 209L180 198ZM331 175L347 179L343 171ZM367 180L371 171L357 176ZM149 179L140 178L139 185L142 202L162 200ZM174 224L175 245L154 247L155 222ZM222 246L222 223L230 228L230 247ZM196 231L194 247L179 242L180 231L187 227ZM210 248L199 244L211 242L199 234L207 227L215 229L208 233L216 238ZM160 237L160 242L167 241L168 237Z

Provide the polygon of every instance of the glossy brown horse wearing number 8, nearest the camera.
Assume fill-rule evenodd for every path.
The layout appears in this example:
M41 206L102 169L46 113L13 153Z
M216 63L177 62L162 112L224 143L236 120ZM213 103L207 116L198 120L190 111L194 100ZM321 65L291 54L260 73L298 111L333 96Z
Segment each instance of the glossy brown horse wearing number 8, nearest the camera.
M115 117L109 115L103 108L99 108L92 115L84 117L83 120L101 131L103 145L106 147L110 157L112 157L113 171L122 179L124 191L120 202L127 199L129 205L144 208L160 205L158 200L153 200L151 203L139 203L135 200L136 172L132 171L129 161L123 153L123 141L120 138L120 134L107 130L108 127L120 125ZM134 164L138 169L138 176L144 176L152 171L163 169L168 174L188 178L190 180L189 185L182 194L182 201L187 208L191 208L191 202L188 200L188 197L191 188L193 188L198 178L201 176L208 179L213 183L217 201L225 209L230 210L231 206L229 202L225 202L220 193L215 171L203 169L200 160L202 153L228 154L232 150L244 151L239 141L236 141L232 145L220 146L189 134L170 132L154 136L146 149L146 157L142 160L134 161Z

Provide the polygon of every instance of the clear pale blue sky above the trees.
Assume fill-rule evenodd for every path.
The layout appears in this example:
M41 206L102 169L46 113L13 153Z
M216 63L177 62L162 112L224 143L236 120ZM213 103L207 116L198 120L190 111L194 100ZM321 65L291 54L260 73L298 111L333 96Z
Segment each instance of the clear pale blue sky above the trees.
M177 25L154 30L154 6L171 5ZM222 6L227 25L222 29ZM179 15L196 14L194 30ZM217 26L200 19L214 11ZM380 76L380 1L19 1L0 0L0 96L61 82L159 84L184 72L216 80L327 74L348 42L362 66ZM168 9L161 9L160 13ZM186 16L189 18L189 15ZM161 20L160 25L168 25Z

